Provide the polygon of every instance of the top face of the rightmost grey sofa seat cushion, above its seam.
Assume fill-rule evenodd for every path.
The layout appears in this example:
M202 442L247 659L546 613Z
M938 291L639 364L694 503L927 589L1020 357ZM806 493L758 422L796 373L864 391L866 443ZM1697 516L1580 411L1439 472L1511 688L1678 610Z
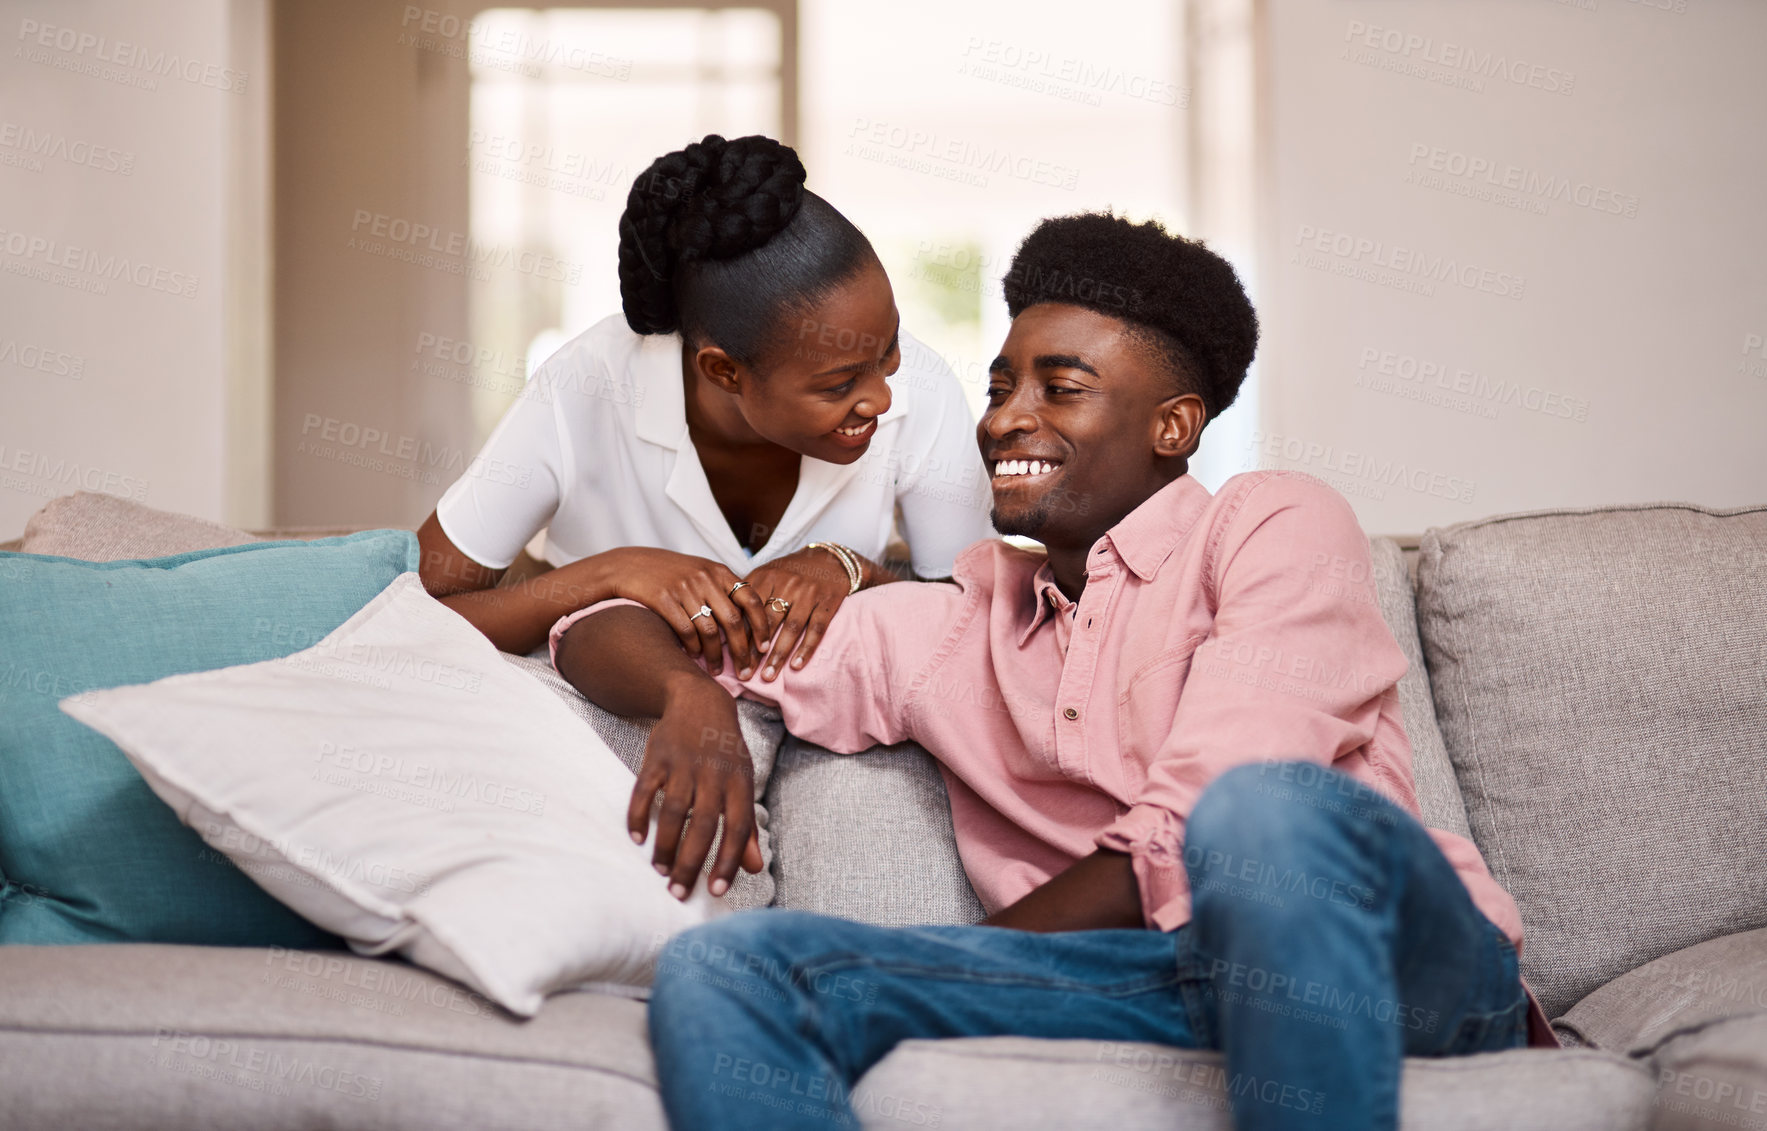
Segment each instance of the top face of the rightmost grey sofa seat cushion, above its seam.
M1622 974L1553 1029L1592 1048L1643 1055L1677 1032L1746 1014L1767 1014L1767 930L1712 938Z

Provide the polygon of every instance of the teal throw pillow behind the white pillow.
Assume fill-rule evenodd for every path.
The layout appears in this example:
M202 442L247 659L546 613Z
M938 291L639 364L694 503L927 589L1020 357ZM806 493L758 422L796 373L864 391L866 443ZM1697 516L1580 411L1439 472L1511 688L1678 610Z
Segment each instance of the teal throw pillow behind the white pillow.
M0 557L0 944L336 945L57 703L288 656L412 569L408 530L148 560Z

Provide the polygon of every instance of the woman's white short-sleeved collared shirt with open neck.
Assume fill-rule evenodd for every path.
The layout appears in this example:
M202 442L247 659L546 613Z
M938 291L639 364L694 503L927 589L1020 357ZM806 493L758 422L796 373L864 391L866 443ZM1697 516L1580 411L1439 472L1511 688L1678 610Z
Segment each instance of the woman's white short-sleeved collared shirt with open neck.
M687 438L679 334L634 334L613 315L553 353L442 495L436 520L472 560L502 569L546 530L546 562L659 546L735 574L829 541L876 560L896 505L922 578L949 578L958 551L993 537L975 421L938 353L901 334L891 410L850 463L804 456L772 537L737 541Z

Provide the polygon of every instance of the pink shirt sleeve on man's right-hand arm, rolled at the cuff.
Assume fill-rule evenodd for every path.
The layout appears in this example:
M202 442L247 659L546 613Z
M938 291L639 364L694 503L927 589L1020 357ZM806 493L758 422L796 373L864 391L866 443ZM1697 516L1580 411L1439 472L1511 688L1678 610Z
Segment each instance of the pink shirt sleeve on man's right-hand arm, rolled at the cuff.
M1405 742L1382 710L1405 654L1350 504L1309 475L1263 474L1217 537L1214 624L1172 730L1129 809L1094 841L1133 857L1145 922L1159 930L1189 917L1184 825L1209 783L1267 760L1361 760L1376 735ZM1385 785L1415 809L1408 781Z

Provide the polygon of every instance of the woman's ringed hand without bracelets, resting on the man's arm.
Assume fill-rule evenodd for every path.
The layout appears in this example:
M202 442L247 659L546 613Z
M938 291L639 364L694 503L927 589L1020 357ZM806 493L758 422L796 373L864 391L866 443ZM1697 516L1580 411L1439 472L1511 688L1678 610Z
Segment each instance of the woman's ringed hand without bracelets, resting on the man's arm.
M663 617L689 656L705 657L707 672L723 670L724 643L739 675L747 677L760 663L756 641L772 636L777 622L769 620L753 580L739 588L740 578L723 562L648 546L610 550L595 560L613 594ZM696 615L701 608L712 613Z

